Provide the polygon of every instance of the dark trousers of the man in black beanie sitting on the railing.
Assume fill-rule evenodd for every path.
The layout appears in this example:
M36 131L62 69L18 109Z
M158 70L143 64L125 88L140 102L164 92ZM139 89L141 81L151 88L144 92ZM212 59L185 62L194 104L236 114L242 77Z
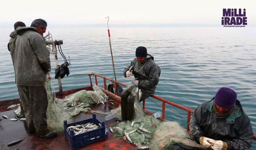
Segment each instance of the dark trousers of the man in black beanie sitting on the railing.
M150 94L144 92L142 93L140 102L146 98L148 98ZM134 101L135 101L135 96L128 91L124 90L121 93L121 112L122 112L122 119L123 120L133 120L134 116Z

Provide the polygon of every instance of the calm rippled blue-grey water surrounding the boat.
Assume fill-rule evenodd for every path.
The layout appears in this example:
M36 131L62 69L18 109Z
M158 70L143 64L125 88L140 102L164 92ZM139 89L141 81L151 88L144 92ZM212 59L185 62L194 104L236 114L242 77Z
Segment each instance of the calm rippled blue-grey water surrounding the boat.
M96 72L114 78L108 33L106 28L48 28L54 40L63 40L62 50L70 56L70 75L64 77L64 90L89 85L88 74ZM0 29L0 100L18 98L14 84L14 69L7 50L12 29ZM162 69L155 95L195 109L210 100L223 86L238 94L256 134L256 30L255 28L110 28L116 77L130 83L133 78L123 77L123 68L134 58L135 49L145 46L148 54ZM58 54L59 63L64 59ZM51 56L52 84L54 59ZM100 84L102 85L102 84ZM161 111L153 98L146 108ZM162 104L158 102L158 104ZM176 114L186 112L166 106ZM166 118L186 127L186 119L166 110ZM255 144L251 149L256 149Z

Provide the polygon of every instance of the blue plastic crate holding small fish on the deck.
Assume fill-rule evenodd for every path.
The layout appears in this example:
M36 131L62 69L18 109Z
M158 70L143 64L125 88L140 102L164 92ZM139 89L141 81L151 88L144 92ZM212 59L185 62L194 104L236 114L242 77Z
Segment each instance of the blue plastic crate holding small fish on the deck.
M86 124L88 122L92 122L101 127L92 131L78 134L78 135L74 135L73 130L70 130L70 132L68 132L67 128L69 126L76 126L77 124ZM100 122L98 119L96 119L95 113L92 114L92 118L90 119L74 122L71 124L67 124L67 121L64 120L64 133L65 133L65 139L69 142L72 150L96 141L106 140L105 122L104 121Z

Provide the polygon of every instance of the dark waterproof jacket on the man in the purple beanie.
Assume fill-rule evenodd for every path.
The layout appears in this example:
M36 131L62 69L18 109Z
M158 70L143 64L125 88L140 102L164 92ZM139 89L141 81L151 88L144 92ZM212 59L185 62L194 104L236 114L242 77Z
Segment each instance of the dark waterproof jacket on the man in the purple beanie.
M190 120L192 137L199 144L199 138L205 136L222 140L228 144L228 150L244 150L251 147L253 140L252 125L238 100L232 112L218 117L213 111L214 98L200 104Z

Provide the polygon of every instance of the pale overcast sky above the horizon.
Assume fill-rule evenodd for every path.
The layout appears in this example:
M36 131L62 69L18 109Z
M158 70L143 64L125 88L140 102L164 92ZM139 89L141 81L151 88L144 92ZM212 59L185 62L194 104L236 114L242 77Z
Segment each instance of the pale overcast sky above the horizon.
M36 18L52 25L208 24L220 25L223 8L246 8L248 26L256 26L254 0L2 0L0 26Z

